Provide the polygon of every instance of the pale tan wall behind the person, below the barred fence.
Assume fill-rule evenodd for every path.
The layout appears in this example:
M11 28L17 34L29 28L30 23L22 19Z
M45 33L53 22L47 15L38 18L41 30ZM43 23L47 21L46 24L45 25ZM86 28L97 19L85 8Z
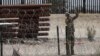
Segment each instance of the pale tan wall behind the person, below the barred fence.
M71 16L74 16L73 14ZM57 25L59 26L60 38L65 38L65 15L51 14L50 16L50 31L49 38L57 38ZM94 26L96 29L96 36L100 37L100 14L80 14L74 21L75 23L75 37L87 38L87 27Z

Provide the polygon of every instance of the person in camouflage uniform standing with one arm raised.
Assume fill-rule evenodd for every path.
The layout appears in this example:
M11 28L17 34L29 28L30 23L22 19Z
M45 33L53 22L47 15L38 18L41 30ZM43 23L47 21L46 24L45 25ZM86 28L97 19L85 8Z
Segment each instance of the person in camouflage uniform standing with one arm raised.
M77 11L75 11L75 16L71 17L68 12L65 13L65 16L67 19L65 20L66 23L66 51L67 55L74 55L74 42L75 42L75 37L74 37L74 20L78 17Z

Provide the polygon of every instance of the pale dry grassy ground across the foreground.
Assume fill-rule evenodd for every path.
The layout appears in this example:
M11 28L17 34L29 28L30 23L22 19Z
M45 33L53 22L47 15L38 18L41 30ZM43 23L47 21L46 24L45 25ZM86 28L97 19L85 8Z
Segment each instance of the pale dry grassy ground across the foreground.
M76 39L75 41L75 54L76 55L94 55L100 54L100 41L89 42L86 39ZM65 40L60 40L61 55L65 55ZM4 56L11 56L13 48L16 50L19 48L19 54L21 56L57 56L57 40L51 39L48 42L26 45L26 44L6 44L4 45ZM10 50L10 51L9 51Z

